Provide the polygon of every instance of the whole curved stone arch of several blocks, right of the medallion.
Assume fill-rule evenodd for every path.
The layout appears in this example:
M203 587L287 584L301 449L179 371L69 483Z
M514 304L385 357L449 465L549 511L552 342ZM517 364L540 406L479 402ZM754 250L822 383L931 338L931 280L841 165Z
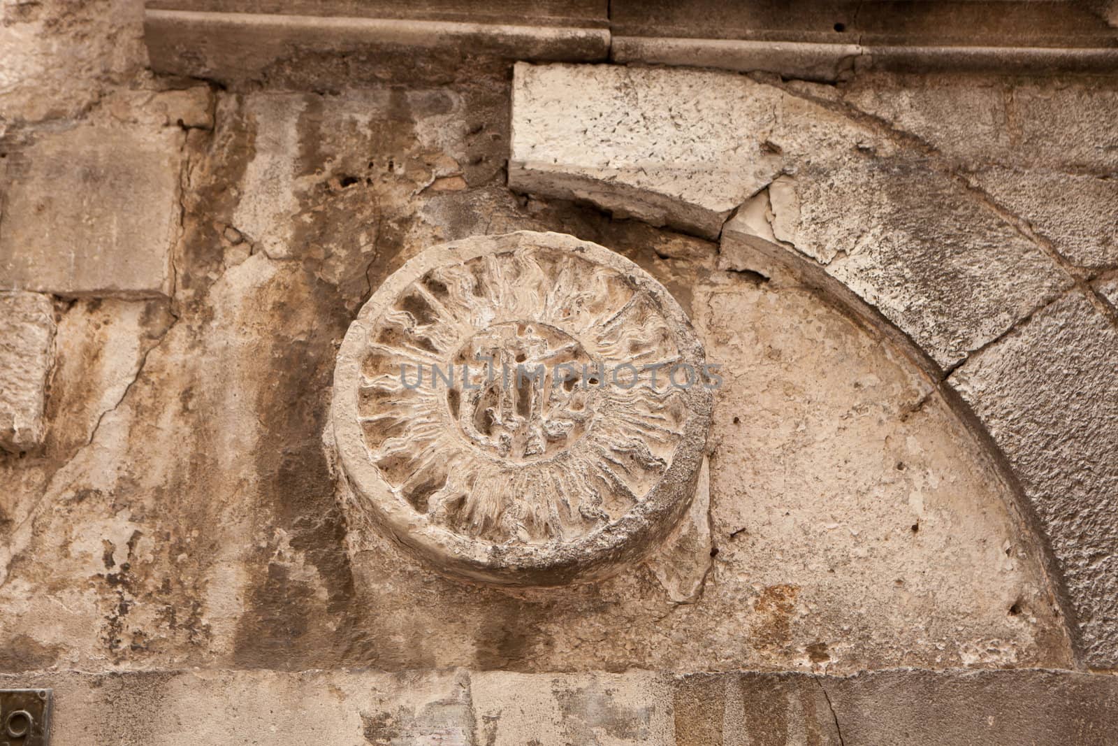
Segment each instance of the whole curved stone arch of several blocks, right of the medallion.
M1083 661L1118 665L1118 320L1023 221L826 93L519 65L513 95L514 189L719 236L721 268L751 270L740 247L759 249L910 341L932 377L957 370L947 383L1052 553Z

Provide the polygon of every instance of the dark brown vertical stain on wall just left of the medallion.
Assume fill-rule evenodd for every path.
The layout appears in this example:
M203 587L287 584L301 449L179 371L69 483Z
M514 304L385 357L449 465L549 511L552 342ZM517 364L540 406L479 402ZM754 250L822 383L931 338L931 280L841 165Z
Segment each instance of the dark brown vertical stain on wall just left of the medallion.
M259 497L273 539L255 553L256 578L237 629L234 658L245 667L321 667L333 661L345 627L353 624L353 577L343 538L345 521L322 447L333 376L333 340L348 322L337 289L301 264L273 286L269 314L275 336L267 356L271 381L260 390L263 435L256 455ZM281 529L294 557L282 551ZM295 577L291 565L306 561L325 589Z

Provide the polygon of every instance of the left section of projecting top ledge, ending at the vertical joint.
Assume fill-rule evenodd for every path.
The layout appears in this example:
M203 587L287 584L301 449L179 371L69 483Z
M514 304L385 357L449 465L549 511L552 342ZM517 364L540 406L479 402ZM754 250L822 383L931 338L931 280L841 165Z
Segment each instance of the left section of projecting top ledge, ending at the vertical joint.
M192 10L148 9L144 37L157 73L219 81L257 79L273 66L297 64L300 54L429 50L594 62L609 53L609 31L601 28Z

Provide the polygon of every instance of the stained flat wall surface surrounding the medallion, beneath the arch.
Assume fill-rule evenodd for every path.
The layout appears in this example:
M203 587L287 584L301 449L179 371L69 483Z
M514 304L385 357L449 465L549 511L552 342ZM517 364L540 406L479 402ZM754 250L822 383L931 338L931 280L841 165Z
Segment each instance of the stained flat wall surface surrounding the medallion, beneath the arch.
M214 131L188 133L176 305L74 304L44 455L2 461L8 670L1071 665L1010 487L946 402L911 413L923 374L797 282L718 270L710 242L518 200L499 166L508 94L300 94L287 258L235 216L275 110L260 100L291 94L218 95ZM451 176L466 188L433 188ZM693 603L669 595L660 558L510 592L443 578L376 532L351 541L324 441L337 344L424 248L518 229L635 261L724 366L718 551Z

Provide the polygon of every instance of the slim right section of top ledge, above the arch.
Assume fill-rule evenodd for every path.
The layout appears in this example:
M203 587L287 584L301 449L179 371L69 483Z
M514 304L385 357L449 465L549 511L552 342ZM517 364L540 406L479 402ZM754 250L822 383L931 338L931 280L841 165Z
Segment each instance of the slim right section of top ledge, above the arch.
M614 36L610 59L833 82L858 72L1003 74L1118 72L1118 48L860 46L808 41L754 41Z

